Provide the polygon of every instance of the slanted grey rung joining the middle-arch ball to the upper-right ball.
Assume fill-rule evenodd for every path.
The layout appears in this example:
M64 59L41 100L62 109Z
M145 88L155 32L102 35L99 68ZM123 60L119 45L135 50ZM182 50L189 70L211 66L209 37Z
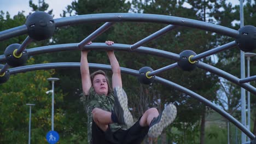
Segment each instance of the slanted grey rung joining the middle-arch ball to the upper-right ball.
M216 47L216 48L208 50L206 52L202 52L199 55L191 57L191 61L196 61L198 59L201 59L201 58L204 58L204 57L207 57L207 56L211 56L211 55L213 55L215 53L218 53L220 51L224 51L224 50L230 49L231 47L234 47L234 46L236 46L236 41L232 41L232 42L230 42L228 44Z

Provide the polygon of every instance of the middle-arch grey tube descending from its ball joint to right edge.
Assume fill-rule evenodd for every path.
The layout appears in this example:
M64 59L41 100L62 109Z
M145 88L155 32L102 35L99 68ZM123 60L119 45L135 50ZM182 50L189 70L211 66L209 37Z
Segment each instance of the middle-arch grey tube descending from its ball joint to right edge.
M255 87L249 85L248 83L239 83L240 79L238 79L234 75L226 73L226 71L220 70L218 68L215 68L215 67L213 67L211 65L205 64L205 63L200 62L200 61L197 64L197 67L201 68L201 69L205 69L207 71L210 71L211 73L217 74L217 75L223 77L224 79L229 80L229 81L235 83L236 85L239 85L239 86L247 89L247 91L249 91L249 92L251 92L251 93L256 95L256 88Z

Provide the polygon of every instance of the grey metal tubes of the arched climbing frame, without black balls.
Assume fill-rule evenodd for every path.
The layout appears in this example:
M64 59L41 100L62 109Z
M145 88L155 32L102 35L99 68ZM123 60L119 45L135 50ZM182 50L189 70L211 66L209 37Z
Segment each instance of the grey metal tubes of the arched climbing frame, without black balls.
M47 53L47 52L57 52L57 51L69 51L69 50L82 50L82 49L89 49L89 50L105 50L105 49L113 49L118 51L129 51L129 52L141 52L141 53L147 53L154 56L160 56L168 59L173 59L174 61L179 61L179 55L172 52L152 49L150 47L143 47L143 44L148 43L149 41L156 39L160 37L161 35L171 31L174 28L177 28L178 26L185 26L185 27L192 27L192 28L199 28L203 29L205 31L211 31L218 34L227 35L232 38L237 38L239 32L226 28L223 26L214 25L212 23L197 21L197 20L191 20L191 19L185 19L183 17L174 17L174 16L165 16L165 15L154 15L154 14L127 14L127 13L111 13L111 14L91 14L91 15L79 15L79 16L71 16L71 17L63 17L60 19L55 19L56 27L61 26L67 26L67 25L75 25L78 23L89 23L89 22L106 22L103 26L98 28L94 33L90 34L88 37L86 37L83 41L80 43L74 43L74 44L61 44L61 45L50 45L50 46L42 46L42 47L36 47L33 49L28 49L27 53L28 56L38 55L41 53ZM155 22L155 23L166 23L168 26L160 29L158 32L153 33L152 35L149 35L147 38L144 38L137 43L133 45L125 45L125 44L114 44L112 46L106 46L102 43L93 43L91 45L85 45L89 41L95 39L98 35L106 31L109 27L113 26L115 22ZM27 34L27 27L26 25L15 27L8 29L6 31L0 32L0 41L16 37L18 35ZM24 43L20 46L20 49L24 49L28 43L31 42L30 38L27 38ZM216 47L212 50L200 53L194 57L191 57L190 61L197 61L201 58L211 56L214 53L224 51L226 49L230 49L232 47L236 46L235 41L231 41L228 44ZM5 56L0 56L0 62L5 62ZM90 64L90 68L101 68L110 70L109 65L104 64ZM17 68L11 68L8 69L8 65L5 64L4 71L9 71L10 74L16 74L16 73L23 73L26 71L31 70L40 70L40 69L53 69L53 68L79 68L80 63L48 63L48 64L35 64L35 65L26 65L23 67L17 67ZM173 69L178 67L177 63L167 65L164 68L160 68L158 70L154 70L149 73L149 76L156 75L158 73L161 73L162 71ZM237 77L226 73L223 70L220 70L218 68L212 67L211 65L208 65L203 62L198 62L197 67L201 69L205 69L207 71L210 71L211 73L217 74L221 77L223 77L226 80L229 80L236 85L239 85L245 89L247 89L249 92L256 94L256 88L249 85L248 83L252 80L255 80L255 77L249 77L248 79L238 79ZM121 71L123 73L131 74L131 75L138 75L137 70L127 69L127 68L121 68ZM1 70L2 72L2 70ZM243 124L237 121L234 117L229 115L229 113L225 112L224 110L219 109L216 105L214 105L211 101L203 98L201 95L190 91L187 88L184 88L180 85L177 85L176 83L173 83L169 80L162 79L161 77L155 76L155 81L158 81L166 86L171 86L173 88L178 89L179 91L190 95L191 97L201 101L201 103L211 107L213 110L217 111L228 119L230 122L232 122L234 125L236 125L237 128L239 128L243 133L245 133L250 139L254 139L255 136L249 131Z

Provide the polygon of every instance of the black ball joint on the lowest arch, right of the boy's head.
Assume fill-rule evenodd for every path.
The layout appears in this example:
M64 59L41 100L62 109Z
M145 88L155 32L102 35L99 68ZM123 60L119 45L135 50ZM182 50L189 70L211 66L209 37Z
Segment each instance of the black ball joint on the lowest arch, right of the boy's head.
M142 67L141 69L139 69L139 76L138 76L139 82L145 85L151 84L155 80L155 76L148 76L148 74L151 71L153 71L153 69L150 67Z

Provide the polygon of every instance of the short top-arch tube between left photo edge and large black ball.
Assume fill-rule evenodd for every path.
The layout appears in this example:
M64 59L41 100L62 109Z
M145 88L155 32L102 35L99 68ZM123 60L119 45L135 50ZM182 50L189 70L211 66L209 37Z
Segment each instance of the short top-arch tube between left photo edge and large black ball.
M19 26L0 32L0 41L27 33L27 26Z

